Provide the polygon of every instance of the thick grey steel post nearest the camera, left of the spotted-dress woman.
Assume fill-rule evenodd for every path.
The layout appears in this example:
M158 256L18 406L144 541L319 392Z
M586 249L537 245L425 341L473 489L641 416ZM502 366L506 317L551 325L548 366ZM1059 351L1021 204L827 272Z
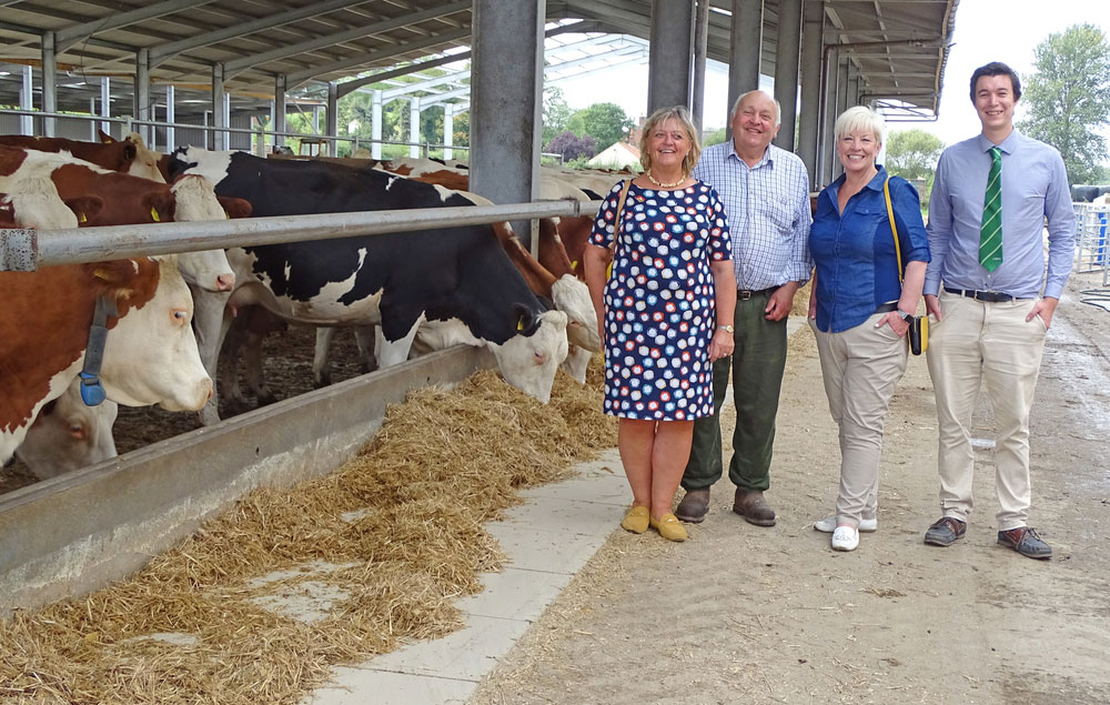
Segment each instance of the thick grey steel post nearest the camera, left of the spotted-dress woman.
M539 189L546 2L474 0L471 12L471 191L494 203L533 201ZM531 250L531 223L517 221L513 229Z

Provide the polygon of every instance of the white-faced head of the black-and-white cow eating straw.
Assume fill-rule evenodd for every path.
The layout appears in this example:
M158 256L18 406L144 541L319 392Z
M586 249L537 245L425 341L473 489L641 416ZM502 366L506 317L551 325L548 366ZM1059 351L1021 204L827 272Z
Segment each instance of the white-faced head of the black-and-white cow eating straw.
M490 349L506 382L546 404L555 372L566 359L566 314L547 311L537 319L529 310L522 310L517 328L519 334L501 345L490 343Z

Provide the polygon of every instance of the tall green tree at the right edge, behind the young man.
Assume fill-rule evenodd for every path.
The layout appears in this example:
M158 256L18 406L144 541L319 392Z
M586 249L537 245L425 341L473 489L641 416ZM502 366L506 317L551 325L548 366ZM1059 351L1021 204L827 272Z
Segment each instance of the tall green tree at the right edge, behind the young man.
M1110 113L1110 42L1098 27L1074 24L1033 50L1019 128L1060 150L1071 183L1096 183L1107 159L1099 129Z

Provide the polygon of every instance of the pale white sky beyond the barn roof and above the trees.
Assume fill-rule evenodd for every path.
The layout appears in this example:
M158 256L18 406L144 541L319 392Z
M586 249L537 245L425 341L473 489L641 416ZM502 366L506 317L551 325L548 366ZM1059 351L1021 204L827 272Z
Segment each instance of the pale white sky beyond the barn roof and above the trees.
M1072 24L1091 22L1110 36L1110 3L1092 0L960 0L956 9L955 46L949 53L941 90L939 119L935 122L892 123L892 130L920 128L952 144L979 132L979 120L968 97L971 72L989 61L1002 61L1025 78L1033 70L1033 48L1051 33ZM1003 10L1005 8L1005 10ZM605 72L559 82L572 109L595 102L615 102L634 120L647 103L647 63L616 67ZM599 87L619 89L599 90ZM764 77L760 88L774 83ZM727 120L728 70L710 66L706 75L705 125L723 127ZM1022 115L1019 101L1016 118Z

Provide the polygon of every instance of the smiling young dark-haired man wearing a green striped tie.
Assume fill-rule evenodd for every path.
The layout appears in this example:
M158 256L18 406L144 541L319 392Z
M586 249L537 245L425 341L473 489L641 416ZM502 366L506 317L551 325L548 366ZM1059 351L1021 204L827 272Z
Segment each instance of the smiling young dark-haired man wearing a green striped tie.
M998 543L1049 558L1052 548L1027 524L1029 410L1045 335L1071 272L1076 218L1060 153L1013 128L1020 98L1018 75L1005 63L976 69L971 102L982 133L945 150L937 164L925 301L936 318L928 362L937 395L944 515L925 542L948 546L967 531L973 504L971 415L982 385L997 433Z

